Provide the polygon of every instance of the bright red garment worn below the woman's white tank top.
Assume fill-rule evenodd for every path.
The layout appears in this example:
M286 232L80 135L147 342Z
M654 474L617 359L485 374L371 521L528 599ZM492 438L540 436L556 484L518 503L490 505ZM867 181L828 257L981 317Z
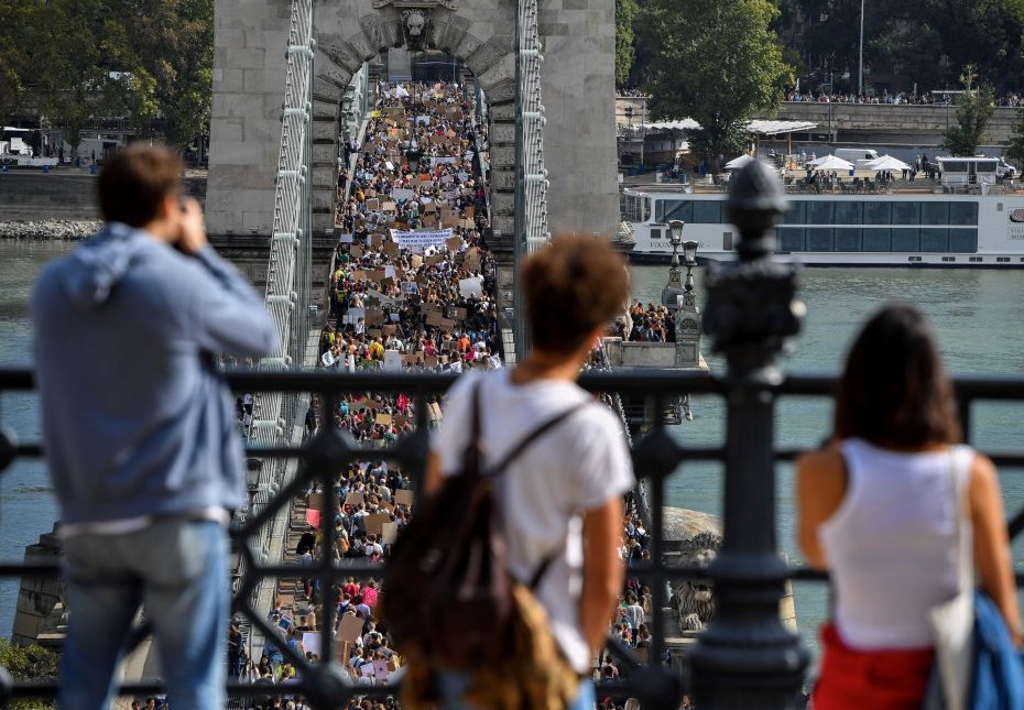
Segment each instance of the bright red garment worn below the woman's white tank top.
M821 627L825 656L814 710L919 710L935 659L933 648L857 651L834 624Z

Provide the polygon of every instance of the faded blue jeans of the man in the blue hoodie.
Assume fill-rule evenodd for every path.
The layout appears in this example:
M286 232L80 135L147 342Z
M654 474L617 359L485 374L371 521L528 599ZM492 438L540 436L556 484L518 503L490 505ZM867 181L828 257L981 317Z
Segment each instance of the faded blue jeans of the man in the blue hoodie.
M228 540L211 521L162 520L134 533L65 540L67 640L61 710L109 708L139 604L152 624L168 701L220 710L230 587Z

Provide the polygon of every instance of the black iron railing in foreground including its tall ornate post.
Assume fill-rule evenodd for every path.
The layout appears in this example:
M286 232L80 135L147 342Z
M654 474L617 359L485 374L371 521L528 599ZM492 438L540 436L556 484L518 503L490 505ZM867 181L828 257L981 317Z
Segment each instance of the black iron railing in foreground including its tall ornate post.
M774 367L776 356L800 328L804 307L796 298L795 267L773 261L774 238L770 228L782 214L783 195L777 181L769 179L765 167L752 163L738 176L729 197L729 210L741 239L738 261L720 264L708 276L708 295L704 316L705 331L713 348L728 363L725 374L701 372L630 374L586 374L580 384L593 392L618 392L645 397L655 413L651 428L634 441L633 465L650 496L653 520L651 559L630 565L629 576L641 579L653 592L654 610L666 607L669 580L709 579L715 583L718 613L700 634L690 652L684 676L688 678L697 706L701 709L791 709L803 707L800 693L809 654L796 635L783 625L778 607L786 580L824 580L824 576L787 565L778 554L776 535L775 463L791 461L800 451L775 446L775 403L783 397L827 397L832 391L829 378L783 376ZM446 390L451 375L427 374L327 374L324 372L243 372L230 371L227 381L237 392L309 392L318 395L323 414L334 412L339 395L372 390L380 393L405 393L415 404L415 430L384 449L356 446L350 438L331 427L324 427L312 440L295 448L251 450L263 458L287 458L301 462L296 477L279 490L259 513L232 531L237 551L246 559L246 574L235 590L233 612L271 635L261 610L251 607L251 591L262 578L316 576L326 588L344 577L379 576L379 564L336 567L319 561L312 567L264 565L261 554L248 545L255 532L266 525L277 510L291 504L309 484L318 482L329 490L335 473L349 462L384 458L400 465L414 480L421 493L422 471L428 444L427 397ZM8 391L33 387L29 371L0 370L0 395ZM963 429L971 436L971 415L977 403L985 401L1024 401L1024 378L955 380ZM693 447L680 445L667 433L664 412L669 397L684 394L717 396L726 403L725 445ZM324 417L326 419L326 417ZM2 420L0 420L2 424ZM301 423L297 423L301 426ZM823 430L808 432L809 437ZM18 444L0 432L0 472L20 457L39 457L44 443ZM1024 450L988 451L1004 471L1024 469ZM665 562L663 506L667 479L679 467L685 474L693 461L720 461L725 465L723 545L707 568L676 567ZM1013 473L1013 471L1010 471ZM336 496L322 496L320 515L330 520L337 513ZM1012 537L1024 529L1024 510L1009 522ZM326 526L320 560L330 559L335 532ZM0 576L56 575L50 564L0 564ZM1024 576L1017 574L1017 585ZM386 596L386 590L384 591ZM326 598L326 594L325 594ZM317 616L324 629L333 627L337 609L325 602ZM600 684L599 692L616 698L635 697L646 710L674 710L680 697L675 674L661 666L665 647L665 618L652 615L652 643L644 666L614 640L609 649L620 662L625 680ZM142 638L144 630L137 637ZM319 663L308 664L290 648L282 648L286 660L299 669L299 681L290 686L307 697L315 708L337 708L353 696L382 698L397 691L394 686L353 687L341 675L334 644L323 645ZM249 685L231 682L232 698L250 695ZM53 696L55 681L11 682L0 678L3 696ZM123 685L126 693L152 693L159 690L155 679Z

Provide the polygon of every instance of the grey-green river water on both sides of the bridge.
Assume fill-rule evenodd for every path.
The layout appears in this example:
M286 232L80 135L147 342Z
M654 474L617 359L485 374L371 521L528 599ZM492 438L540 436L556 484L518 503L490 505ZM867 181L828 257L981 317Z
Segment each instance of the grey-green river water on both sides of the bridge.
M32 280L50 259L64 253L64 243L0 242L0 367L31 362L28 295ZM702 273L697 270L697 293L704 299ZM634 296L644 303L661 296L666 266L633 269ZM916 304L933 319L949 370L954 373L1021 374L1024 372L1024 274L991 270L813 269L803 272L800 297L808 306L803 332L792 356L781 360L789 372L836 372L858 325L878 306L900 297ZM67 343L74 357L74 343ZM704 352L715 372L720 358ZM715 445L725 437L725 416L716 397L694 398L694 420L673 427L683 444ZM1021 448L1024 404L983 404L976 408L971 440L978 447ZM810 447L829 433L828 402L784 400L778 406L776 445ZM0 395L0 420L22 438L37 440L39 416L34 396ZM1024 476L1003 471L1007 509L1024 505ZM798 559L793 540L792 468L778 467L778 542ZM722 471L718 465L690 463L669 479L668 502L708 513L721 512ZM46 473L33 461L19 462L0 476L0 557L21 559L24 546L53 526L55 505ZM1022 543L1014 559L1024 559ZM891 593L896 590L880 590ZM18 588L0 580L0 635L10 633ZM808 644L827 616L824 585L802 583L795 589L797 618Z

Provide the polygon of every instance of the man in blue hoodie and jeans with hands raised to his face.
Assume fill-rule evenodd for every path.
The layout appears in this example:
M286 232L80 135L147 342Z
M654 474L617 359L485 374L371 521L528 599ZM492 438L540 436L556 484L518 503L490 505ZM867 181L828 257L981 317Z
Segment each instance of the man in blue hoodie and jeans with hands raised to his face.
M260 296L207 243L181 175L162 148L109 160L97 181L105 227L50 264L32 295L66 553L63 710L110 707L140 605L171 702L224 703L226 527L246 504L246 481L216 353L266 356L277 334Z

